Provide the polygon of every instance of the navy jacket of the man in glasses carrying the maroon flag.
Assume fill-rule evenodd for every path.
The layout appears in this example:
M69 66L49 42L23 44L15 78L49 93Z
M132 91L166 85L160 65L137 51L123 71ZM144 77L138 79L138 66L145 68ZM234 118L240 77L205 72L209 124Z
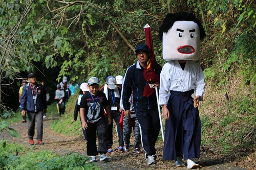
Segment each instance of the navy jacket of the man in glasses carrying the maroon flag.
M162 67L157 65L157 74L160 75ZM136 64L130 66L124 76L122 92L121 92L121 108L124 110L130 109L129 99L133 93L133 103L135 110L144 109L156 109L157 108L157 98L156 92L150 97L143 96L144 87L147 82L143 75L144 68L137 61Z

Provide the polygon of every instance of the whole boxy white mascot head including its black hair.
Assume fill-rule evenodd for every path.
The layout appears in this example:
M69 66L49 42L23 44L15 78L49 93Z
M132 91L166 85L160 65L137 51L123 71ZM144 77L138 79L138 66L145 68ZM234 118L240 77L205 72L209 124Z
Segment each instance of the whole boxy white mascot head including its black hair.
M206 35L195 15L186 12L167 14L159 31L163 43L163 59L198 60L200 39Z

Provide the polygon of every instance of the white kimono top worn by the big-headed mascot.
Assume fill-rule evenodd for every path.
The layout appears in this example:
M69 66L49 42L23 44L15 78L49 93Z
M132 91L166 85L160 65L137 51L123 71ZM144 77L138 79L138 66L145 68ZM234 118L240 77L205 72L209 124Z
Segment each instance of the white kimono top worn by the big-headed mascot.
M160 105L167 105L169 90L184 92L192 89L196 91L196 96L201 96L202 101L205 89L204 74L197 62L187 60L184 70L176 60L164 64L160 74Z

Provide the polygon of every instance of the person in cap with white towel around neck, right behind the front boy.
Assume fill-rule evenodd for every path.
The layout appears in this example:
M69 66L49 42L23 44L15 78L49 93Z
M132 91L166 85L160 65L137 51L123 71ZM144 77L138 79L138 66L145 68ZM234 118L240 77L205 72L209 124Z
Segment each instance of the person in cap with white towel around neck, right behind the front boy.
M108 152L113 152L113 120L115 120L116 124L116 132L118 135L118 151L123 151L123 132L119 125L119 121L121 118L121 110L120 110L120 94L121 89L119 89L116 85L116 78L114 76L109 76L106 78L106 83L104 88L102 89L106 95L106 99L109 101L110 105L110 113L112 117L112 123L108 125L106 130L106 138L108 140ZM108 118L108 116L106 116Z

